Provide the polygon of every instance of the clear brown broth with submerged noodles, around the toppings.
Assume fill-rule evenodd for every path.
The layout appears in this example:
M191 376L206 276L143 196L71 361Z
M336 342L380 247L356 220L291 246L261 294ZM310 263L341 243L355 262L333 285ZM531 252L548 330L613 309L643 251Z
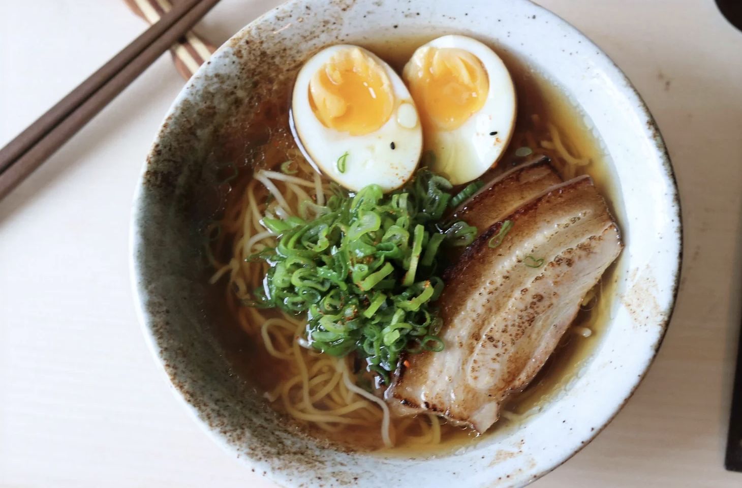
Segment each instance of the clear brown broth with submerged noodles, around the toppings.
M389 39L359 44L377 53L399 71L416 47L427 40ZM507 154L495 171L503 171L521 162L523 158L516 156L516 151L530 148L535 154L550 156L564 179L590 174L601 193L608 198L611 211L620 220L621 214L617 214L620 209L616 208L618 202L611 198L616 192L608 171L608 156L588 128L586 116L536 70L504 50L496 51L513 76L519 106L516 131ZM217 329L235 373L254 385L257 395L266 398L266 408L277 409L298 429L324 441L350 449L381 449L384 446L380 433L383 418L381 406L361 398L344 386L342 375L335 371L338 367L333 363L335 360L295 343L302 330L299 323L301 317L287 318L279 311L253 309L238 298L238 295L260 286L263 274L257 263L247 271L246 268L237 271L246 256L237 255L234 251L245 245L249 238L255 238L265 231L257 223L260 216L257 208L263 208L266 199L272 197L263 183L254 178L254 171L281 171L283 163L292 161L284 169L291 172L293 178L318 185L326 184L324 179L319 182L315 179L314 170L306 162L299 163L303 159L289 129L289 101L297 68L277 73L271 79L255 80L255 103L240 110L240 117L223 131L222 140L212 155L213 160L222 165L219 172L222 182L218 186L219 193L224 196L224 205L214 221L206 225L205 232L209 236L206 254L215 271L210 281L214 288L220 290L231 317ZM278 182L284 189L289 188L287 184ZM308 197L315 194L310 185L294 183L291 188L293 190L286 190L286 205L289 206L298 205L303 198L301 192ZM250 237L244 234L245 228L249 228ZM233 266L229 263L233 263ZM500 421L480 438L497 435L502 429L524 421L568 387L600 342L605 323L608 322L614 267L609 268L594 293L588 295L574 325L568 329L539 375L524 392L510 398ZM303 366L291 358L296 354L303 358ZM362 365L354 363L358 361L347 360L347 376L353 383L358 381L368 387L370 377L364 373ZM355 370L358 370L359 376L354 380ZM301 392L301 385L306 381L310 385L306 395L309 403L318 398L312 409L306 408L307 398ZM358 409L358 415L352 418L352 422L336 423L332 418L324 418L322 412L337 411L338 405L351 408L356 402L355 398L367 405ZM376 412L373 412L374 409ZM453 449L475 438L470 431L450 426L428 415L392 418L391 421L394 426L393 451L399 453Z

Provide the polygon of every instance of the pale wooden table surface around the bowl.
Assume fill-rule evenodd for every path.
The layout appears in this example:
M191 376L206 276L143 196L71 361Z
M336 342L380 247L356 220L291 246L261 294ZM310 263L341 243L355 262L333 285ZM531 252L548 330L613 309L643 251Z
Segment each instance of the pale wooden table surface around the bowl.
M220 44L277 3L223 0L200 32ZM540 3L603 47L657 118L685 261L672 325L634 398L534 486L740 487L723 451L742 284L742 33L713 0ZM0 145L144 29L123 1L0 2ZM131 199L182 85L163 56L0 202L2 487L273 486L191 420L134 316Z

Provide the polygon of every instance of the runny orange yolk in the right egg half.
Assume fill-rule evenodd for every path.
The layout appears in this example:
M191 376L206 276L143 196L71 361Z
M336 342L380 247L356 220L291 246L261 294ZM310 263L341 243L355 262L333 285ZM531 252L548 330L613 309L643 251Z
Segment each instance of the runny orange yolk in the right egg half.
M490 80L472 53L452 47L418 49L402 73L424 125L451 131L481 110Z

